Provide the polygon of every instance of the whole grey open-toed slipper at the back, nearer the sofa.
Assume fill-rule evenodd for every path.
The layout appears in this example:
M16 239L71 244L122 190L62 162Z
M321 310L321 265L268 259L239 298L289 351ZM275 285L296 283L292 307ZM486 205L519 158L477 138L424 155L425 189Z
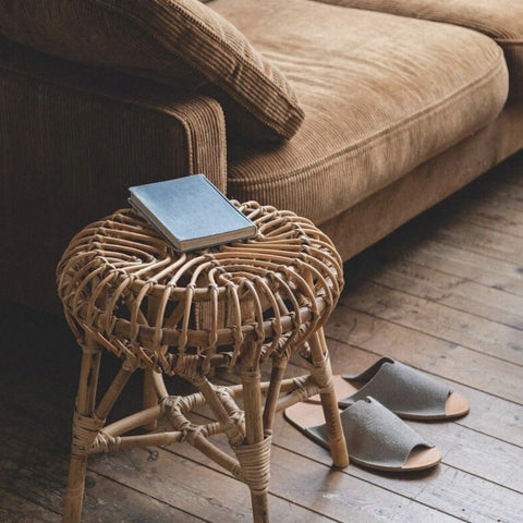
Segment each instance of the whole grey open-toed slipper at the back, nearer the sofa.
M340 408L372 396L405 419L437 421L464 416L469 400L408 365L384 356L360 375L335 376ZM307 400L319 403L319 396Z

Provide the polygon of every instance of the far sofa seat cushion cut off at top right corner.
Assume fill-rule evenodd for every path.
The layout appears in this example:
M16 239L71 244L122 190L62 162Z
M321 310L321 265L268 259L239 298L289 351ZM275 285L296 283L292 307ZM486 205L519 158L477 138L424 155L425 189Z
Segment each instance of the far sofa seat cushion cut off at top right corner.
M523 2L521 0L316 0L460 25L499 44L509 66L512 99L523 99Z

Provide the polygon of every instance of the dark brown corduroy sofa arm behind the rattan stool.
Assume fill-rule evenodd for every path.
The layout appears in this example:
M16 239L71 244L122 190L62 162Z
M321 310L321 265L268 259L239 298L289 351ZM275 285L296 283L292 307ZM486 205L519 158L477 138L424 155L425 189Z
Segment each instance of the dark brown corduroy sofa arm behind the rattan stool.
M227 191L216 100L131 87L121 76L82 73L80 82L63 63L58 73L1 58L3 297L57 311L61 253L86 223L126 206L130 185L203 172Z

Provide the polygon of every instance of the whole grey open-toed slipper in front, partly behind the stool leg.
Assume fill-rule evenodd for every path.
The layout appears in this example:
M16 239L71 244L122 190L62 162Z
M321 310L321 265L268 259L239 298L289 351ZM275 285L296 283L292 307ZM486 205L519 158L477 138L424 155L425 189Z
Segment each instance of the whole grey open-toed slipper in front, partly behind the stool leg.
M321 405L296 403L285 418L317 443L328 448ZM440 451L374 398L360 400L341 412L349 459L369 469L421 471L441 461Z

